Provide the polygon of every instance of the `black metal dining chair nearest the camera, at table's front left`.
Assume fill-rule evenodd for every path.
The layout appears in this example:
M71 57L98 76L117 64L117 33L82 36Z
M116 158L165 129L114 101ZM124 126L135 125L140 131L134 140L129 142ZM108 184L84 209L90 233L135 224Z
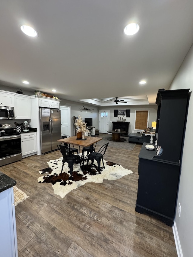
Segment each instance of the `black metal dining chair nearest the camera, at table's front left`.
M62 170L61 170L60 174L62 174L65 162L67 162L68 163L68 167L70 169L70 175L72 177L72 171L73 171L74 162L78 161L80 163L80 166L81 166L81 158L80 158L79 155L75 155L74 152L71 152L71 149L70 149L69 146L58 145L58 149L60 150L60 152L62 153L62 156L63 156L63 159L62 159ZM69 154L67 154L67 150L68 150Z

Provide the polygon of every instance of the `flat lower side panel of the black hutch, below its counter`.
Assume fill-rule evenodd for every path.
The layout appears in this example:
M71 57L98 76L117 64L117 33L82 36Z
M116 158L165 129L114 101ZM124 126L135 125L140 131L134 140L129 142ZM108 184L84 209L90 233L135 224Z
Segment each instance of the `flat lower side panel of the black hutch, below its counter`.
M179 165L139 159L136 205L173 221L179 169Z

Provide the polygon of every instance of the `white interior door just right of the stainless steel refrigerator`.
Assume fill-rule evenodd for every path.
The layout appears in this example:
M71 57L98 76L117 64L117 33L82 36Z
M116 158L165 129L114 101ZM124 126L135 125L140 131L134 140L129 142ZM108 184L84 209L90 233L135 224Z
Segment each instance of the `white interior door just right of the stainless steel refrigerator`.
M71 136L70 128L70 107L60 106L61 112L61 135Z

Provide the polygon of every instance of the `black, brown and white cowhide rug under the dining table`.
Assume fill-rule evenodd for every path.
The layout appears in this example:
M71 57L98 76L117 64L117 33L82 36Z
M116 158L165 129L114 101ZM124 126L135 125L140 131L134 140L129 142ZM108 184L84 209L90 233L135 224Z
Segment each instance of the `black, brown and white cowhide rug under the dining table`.
M125 175L131 174L132 171L123 168L121 165L104 161L105 169L101 161L100 168L98 171L97 162L94 161L93 165L90 163L87 167L87 171L81 171L80 164L74 163L73 176L70 176L68 163L64 164L62 174L62 157L57 160L51 160L48 162L49 168L40 170L40 174L47 174L43 177L38 178L39 183L52 183L54 193L61 197L67 195L71 190L83 186L88 182L102 183L103 179L116 180ZM86 163L85 163L86 164Z

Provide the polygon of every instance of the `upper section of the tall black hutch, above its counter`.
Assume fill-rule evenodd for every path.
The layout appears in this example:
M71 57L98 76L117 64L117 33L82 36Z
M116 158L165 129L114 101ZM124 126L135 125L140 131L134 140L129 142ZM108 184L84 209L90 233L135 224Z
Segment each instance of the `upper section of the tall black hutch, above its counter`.
M156 159L179 164L187 115L189 89L159 91L156 132L163 153Z

